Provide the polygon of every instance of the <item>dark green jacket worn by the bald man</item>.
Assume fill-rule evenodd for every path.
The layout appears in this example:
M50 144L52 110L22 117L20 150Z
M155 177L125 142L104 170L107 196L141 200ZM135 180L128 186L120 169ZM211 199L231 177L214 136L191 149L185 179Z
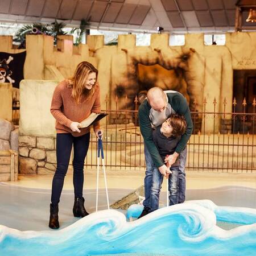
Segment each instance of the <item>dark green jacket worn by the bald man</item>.
M193 122L191 119L191 113L187 104L187 100L185 97L179 93L167 93L168 103L171 105L172 109L179 114L183 115L185 121L187 122L187 130L182 135L180 142L177 144L175 152L180 153L186 146L189 138L191 137L192 130L193 130ZM163 166L163 160L156 148L153 139L152 139L152 127L149 118L151 106L148 104L147 100L144 100L139 106L139 127L141 128L141 134L144 138L144 143L152 160L156 167Z

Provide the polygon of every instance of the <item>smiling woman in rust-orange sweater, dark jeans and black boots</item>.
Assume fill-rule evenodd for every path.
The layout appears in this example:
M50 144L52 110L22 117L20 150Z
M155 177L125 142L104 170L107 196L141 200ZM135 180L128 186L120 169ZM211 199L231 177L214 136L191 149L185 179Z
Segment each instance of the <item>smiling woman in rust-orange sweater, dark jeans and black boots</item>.
M99 113L100 86L97 83L98 70L87 61L76 68L72 79L61 81L52 96L51 113L56 119L57 167L52 180L49 228L59 228L59 201L64 177L68 170L73 145L73 184L75 203L73 214L84 217L89 213L84 208L82 187L84 184L84 159L89 147L90 127L79 129L80 122L94 113ZM96 136L102 135L100 123L94 123Z

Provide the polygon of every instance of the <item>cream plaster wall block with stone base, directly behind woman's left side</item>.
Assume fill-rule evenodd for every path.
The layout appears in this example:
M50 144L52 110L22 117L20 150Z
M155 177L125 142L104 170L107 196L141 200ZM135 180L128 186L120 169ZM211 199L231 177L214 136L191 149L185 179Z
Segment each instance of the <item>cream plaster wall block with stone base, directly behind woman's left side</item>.
M20 174L52 174L56 169L55 119L50 112L56 85L57 81L20 82Z

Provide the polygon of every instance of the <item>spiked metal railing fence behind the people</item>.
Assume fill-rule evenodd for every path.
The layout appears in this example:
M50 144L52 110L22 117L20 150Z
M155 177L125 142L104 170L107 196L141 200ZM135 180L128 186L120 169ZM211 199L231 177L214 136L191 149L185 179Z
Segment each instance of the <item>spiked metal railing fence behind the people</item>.
M127 98L126 98L127 100ZM213 104L213 112L207 112L207 104ZM236 112L237 102L233 101L233 111L216 112L216 100L203 102L203 111L196 111L196 102L192 105L191 115L194 131L187 144L187 167L189 170L208 170L212 172L253 172L256 171L256 129L255 99L251 102L252 113L246 113L247 102L243 100L243 112ZM106 104L104 112L108 120L104 129L104 153L106 167L119 170L143 170L144 144L138 126L138 101L135 110L118 110L118 98L115 98L115 110L109 110ZM213 125L212 132L207 131L208 122ZM207 125L208 124L208 125ZM86 157L86 166L96 167L97 141L92 134L90 148Z

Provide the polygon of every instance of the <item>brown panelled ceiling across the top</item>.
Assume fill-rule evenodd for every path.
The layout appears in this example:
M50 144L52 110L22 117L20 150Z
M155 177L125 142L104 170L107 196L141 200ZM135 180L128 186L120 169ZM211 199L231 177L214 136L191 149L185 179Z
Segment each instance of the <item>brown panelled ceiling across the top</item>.
M248 0L249 1L249 0ZM252 1L252 0L251 0ZM234 30L237 0L0 0L0 22L58 22L67 26L90 19L91 27L123 31L212 32ZM245 22L243 26L254 28ZM183 22L184 21L184 22Z

